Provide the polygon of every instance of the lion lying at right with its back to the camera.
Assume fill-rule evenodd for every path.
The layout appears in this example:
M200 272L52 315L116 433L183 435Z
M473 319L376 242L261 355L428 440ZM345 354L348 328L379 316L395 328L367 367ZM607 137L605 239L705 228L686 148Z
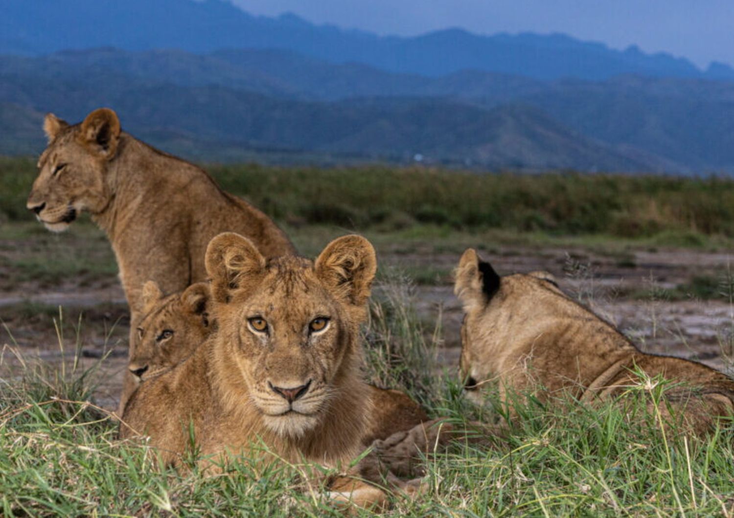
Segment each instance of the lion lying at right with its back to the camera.
M734 414L734 380L701 363L639 351L564 295L549 273L500 277L469 249L459 262L454 292L465 311L460 370L476 402L490 382L498 384L501 402L509 391L537 391L541 401L566 394L591 402L640 385L635 371L642 371L675 382L664 391L664 404L648 404L666 428L704 435L717 418ZM669 426L673 418L677 426Z

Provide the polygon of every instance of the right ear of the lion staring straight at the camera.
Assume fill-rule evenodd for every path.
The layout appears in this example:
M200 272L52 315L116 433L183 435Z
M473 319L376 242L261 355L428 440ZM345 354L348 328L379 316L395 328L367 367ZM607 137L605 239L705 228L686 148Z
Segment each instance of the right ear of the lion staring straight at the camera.
M377 272L377 257L368 240L349 235L329 243L316 259L314 269L336 297L363 306Z

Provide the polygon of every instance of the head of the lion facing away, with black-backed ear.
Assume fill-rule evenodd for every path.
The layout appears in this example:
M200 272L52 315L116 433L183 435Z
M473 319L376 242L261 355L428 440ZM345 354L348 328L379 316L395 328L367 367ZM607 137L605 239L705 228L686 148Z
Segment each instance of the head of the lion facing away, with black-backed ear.
M466 396L479 404L482 388L495 378L498 358L512 347L512 336L531 328L535 305L561 292L547 272L500 277L470 248L459 261L454 293L464 308L459 375Z

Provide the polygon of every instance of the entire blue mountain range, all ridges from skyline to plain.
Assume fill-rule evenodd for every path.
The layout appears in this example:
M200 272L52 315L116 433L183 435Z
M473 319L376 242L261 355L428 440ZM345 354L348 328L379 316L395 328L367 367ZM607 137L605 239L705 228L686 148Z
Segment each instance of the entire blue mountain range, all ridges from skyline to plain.
M380 36L222 0L0 0L0 153L110 106L197 160L734 171L734 70L564 34Z

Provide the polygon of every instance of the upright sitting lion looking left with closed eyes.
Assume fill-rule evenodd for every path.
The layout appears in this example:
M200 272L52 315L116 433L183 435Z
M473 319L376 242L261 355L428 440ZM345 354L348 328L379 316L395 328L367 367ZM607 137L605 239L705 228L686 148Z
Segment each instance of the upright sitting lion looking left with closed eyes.
M172 293L206 279L204 251L220 232L249 237L266 257L294 251L266 215L197 166L121 131L109 108L75 125L48 114L43 130L48 147L27 207L54 232L90 212L112 243L134 320L145 281Z

